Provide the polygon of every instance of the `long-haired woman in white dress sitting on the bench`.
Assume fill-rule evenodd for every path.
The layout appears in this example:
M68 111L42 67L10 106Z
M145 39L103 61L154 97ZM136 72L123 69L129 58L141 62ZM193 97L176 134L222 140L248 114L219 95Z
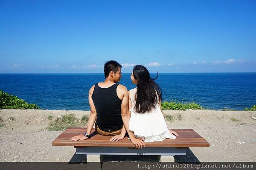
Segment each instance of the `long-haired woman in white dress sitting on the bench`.
M134 66L131 81L137 87L129 91L129 130L144 142L175 139L178 134L169 131L161 109L161 89L148 70L144 66Z

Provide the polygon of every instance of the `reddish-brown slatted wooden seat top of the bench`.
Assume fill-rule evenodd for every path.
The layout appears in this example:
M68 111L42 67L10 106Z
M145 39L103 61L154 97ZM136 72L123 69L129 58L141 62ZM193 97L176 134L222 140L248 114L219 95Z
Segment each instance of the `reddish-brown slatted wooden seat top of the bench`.
M192 129L172 129L179 134L176 139L165 139L158 142L145 142L146 147L209 147L209 143ZM87 131L87 128L68 128L53 142L53 146L101 146L101 147L134 147L134 144L125 137L121 141L109 141L112 136L93 135L90 139L83 141L71 141L70 138ZM94 129L93 131L94 132Z

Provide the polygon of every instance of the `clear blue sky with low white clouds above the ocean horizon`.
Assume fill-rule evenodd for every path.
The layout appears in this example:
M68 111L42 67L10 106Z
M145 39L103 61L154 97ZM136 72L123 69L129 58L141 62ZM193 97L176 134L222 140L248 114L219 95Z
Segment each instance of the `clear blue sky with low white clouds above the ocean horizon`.
M0 1L0 73L256 72L255 0Z

